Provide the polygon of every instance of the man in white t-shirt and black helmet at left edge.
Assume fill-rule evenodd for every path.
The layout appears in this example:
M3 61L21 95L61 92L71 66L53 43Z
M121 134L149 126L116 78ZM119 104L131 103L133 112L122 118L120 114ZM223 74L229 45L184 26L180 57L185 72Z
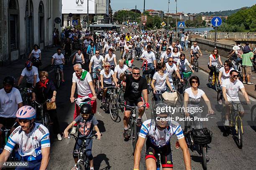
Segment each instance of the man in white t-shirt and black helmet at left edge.
M13 77L7 76L4 78L3 88L0 90L0 128L3 126L11 128L15 123L17 110L23 106L20 92L13 85ZM0 131L0 153L3 152L2 134L3 132Z

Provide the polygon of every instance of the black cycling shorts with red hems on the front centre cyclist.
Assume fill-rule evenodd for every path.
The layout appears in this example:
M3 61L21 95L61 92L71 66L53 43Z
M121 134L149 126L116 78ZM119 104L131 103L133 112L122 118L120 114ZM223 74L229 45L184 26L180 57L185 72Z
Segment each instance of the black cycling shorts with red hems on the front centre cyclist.
M165 145L164 147L157 148L155 145L153 145L149 139L146 140L146 157L153 158L156 160L158 157L157 154L160 154L160 160L161 165L163 168L173 168L173 162L172 162L172 150L170 143L168 145Z

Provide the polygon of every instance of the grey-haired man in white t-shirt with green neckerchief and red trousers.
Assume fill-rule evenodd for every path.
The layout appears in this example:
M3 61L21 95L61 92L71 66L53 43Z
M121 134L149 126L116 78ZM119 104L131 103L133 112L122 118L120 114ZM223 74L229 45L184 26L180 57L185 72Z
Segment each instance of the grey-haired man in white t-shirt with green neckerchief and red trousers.
M92 105L92 114L96 113L97 109L97 103L96 103L96 92L94 90L93 84L92 84L92 78L89 72L82 69L81 64L75 64L74 65L74 73L72 77L72 87L71 87L71 95L70 95L70 101L73 103L75 100L74 93L77 92L76 97L84 97L88 96L91 100ZM76 90L77 87L77 90ZM74 110L74 120L77 116L80 114L80 107L75 104L75 110ZM74 125L71 132L72 134L76 133L77 130L77 124Z

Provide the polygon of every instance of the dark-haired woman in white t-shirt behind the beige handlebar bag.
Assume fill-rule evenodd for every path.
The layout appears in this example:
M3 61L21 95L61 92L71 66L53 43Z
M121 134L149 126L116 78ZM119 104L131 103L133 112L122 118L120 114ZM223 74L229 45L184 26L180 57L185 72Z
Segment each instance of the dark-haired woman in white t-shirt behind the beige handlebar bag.
M153 79L151 81L151 87L153 88L153 96L155 101L160 100L160 95L166 92L166 84L172 89L172 86L169 82L168 72L166 71L166 65L163 62L158 62L156 64L156 70Z

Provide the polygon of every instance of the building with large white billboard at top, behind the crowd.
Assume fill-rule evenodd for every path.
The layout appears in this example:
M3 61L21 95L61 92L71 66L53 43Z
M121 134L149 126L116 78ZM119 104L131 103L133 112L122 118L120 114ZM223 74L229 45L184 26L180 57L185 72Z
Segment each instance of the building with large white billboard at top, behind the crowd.
M69 27L72 20L79 20L82 28L86 28L87 0L62 0L62 5L62 24L64 28ZM90 0L88 12L89 24L110 23L111 11L110 0ZM69 17L69 13L73 14L71 18Z

